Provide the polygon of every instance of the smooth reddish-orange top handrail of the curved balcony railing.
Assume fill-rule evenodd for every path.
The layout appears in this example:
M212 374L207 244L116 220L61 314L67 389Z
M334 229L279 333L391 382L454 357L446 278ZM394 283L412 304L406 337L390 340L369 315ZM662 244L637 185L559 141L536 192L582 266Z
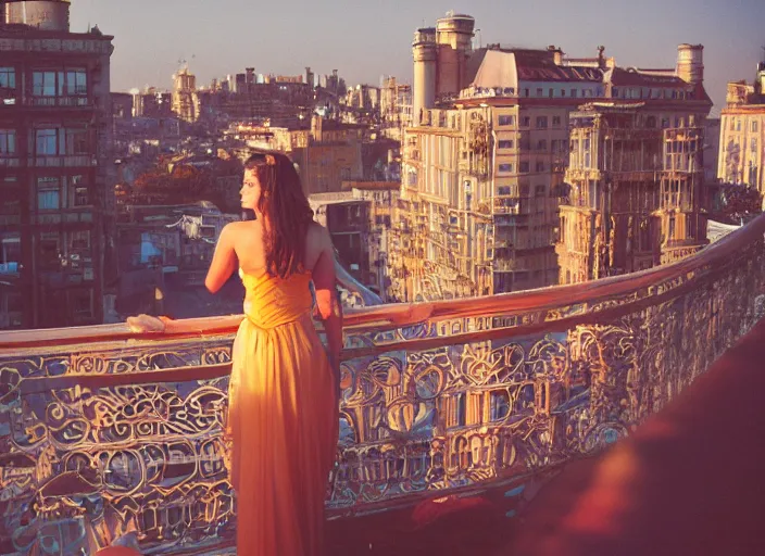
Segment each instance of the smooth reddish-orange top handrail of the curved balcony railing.
M722 262L731 252L762 239L764 235L765 214L761 214L719 241L672 264L577 285L554 286L482 298L394 303L349 309L344 315L344 328L354 331L361 331L364 328L399 328L417 325L428 319L444 320L471 316L513 315L569 306L582 302L595 302L624 295L651 283L680 278L710 264ZM164 332L134 332L125 323L39 330L11 330L0 334L0 350L124 340L166 341L189 337L229 334L236 332L242 318L243 315L229 315L175 320L171 329Z

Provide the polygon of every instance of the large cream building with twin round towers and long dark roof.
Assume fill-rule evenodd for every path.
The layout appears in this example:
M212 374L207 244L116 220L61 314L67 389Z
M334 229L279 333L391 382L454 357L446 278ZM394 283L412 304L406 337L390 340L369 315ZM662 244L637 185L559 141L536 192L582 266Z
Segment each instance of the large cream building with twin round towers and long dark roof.
M638 102L665 89L672 102L681 89L698 94L684 97L700 103L688 113L708 113L703 85L691 83L703 73L701 47L682 46L676 68L623 68L603 47L578 59L555 46L474 49L474 27L469 15L450 13L414 37L414 125L403 136L398 223L405 236L397 278L407 301L559 282L559 204L580 105Z

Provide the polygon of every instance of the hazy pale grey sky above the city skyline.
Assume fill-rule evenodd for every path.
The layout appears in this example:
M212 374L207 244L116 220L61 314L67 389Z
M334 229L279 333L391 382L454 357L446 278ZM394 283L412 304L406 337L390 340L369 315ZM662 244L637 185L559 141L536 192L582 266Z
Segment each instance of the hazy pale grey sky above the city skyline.
M476 18L484 45L606 55L623 66L674 67L677 45L703 43L706 90L752 81L765 45L765 0L72 0L72 30L114 35L112 89L171 87L178 60L198 83L242 72L340 71L349 85L412 79L412 35L448 10ZM192 56L195 56L192 59Z

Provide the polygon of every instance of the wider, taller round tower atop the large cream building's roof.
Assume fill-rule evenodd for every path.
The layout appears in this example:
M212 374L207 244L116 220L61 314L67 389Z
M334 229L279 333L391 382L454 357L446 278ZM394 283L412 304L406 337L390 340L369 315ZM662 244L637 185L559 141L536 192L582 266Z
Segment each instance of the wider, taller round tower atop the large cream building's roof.
M436 94L457 93L465 83L467 59L473 51L475 18L449 12L436 22L438 84Z

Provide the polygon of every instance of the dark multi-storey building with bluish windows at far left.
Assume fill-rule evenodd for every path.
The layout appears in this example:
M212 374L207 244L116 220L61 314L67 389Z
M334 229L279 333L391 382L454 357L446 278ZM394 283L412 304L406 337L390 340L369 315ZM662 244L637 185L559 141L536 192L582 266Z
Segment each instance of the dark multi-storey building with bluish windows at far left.
M0 328L103 323L114 254L110 56L68 1L0 21ZM113 300L112 300L113 301Z

